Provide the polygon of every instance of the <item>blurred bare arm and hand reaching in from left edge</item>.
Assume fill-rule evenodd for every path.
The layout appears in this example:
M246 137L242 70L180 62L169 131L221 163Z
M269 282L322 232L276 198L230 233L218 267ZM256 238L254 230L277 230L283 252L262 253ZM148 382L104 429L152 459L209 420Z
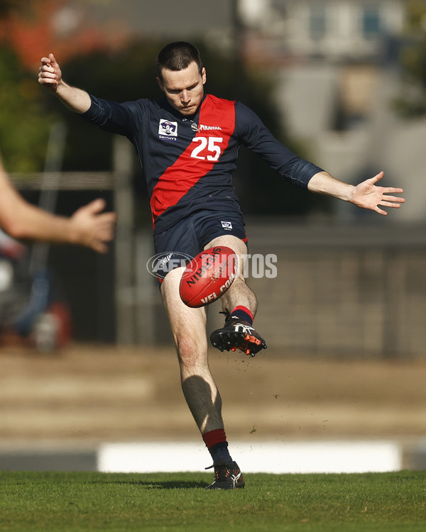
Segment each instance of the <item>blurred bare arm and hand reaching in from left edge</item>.
M105 253L114 238L116 214L102 212L103 199L80 207L70 218L29 204L11 184L0 155L0 228L18 240L83 245Z

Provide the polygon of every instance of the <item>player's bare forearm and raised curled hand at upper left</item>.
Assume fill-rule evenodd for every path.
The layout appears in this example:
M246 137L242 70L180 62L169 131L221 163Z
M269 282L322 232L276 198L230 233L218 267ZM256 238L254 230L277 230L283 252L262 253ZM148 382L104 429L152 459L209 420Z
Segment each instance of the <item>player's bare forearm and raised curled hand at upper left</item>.
M38 82L58 96L62 104L75 113L84 113L92 104L86 91L72 87L64 82L62 72L53 54L41 58Z

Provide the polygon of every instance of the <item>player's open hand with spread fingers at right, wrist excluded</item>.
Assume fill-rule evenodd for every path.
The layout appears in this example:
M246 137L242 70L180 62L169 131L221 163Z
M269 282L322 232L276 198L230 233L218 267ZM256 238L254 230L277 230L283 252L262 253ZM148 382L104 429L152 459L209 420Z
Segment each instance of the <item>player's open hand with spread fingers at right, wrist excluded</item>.
M388 196L388 194L401 194L404 191L394 187L377 187L376 183L380 181L383 175L383 172L379 172L371 179L366 179L366 181L356 185L354 192L352 192L351 203L383 215L388 213L383 211L380 206L399 209L400 204L404 203L405 199L400 196Z

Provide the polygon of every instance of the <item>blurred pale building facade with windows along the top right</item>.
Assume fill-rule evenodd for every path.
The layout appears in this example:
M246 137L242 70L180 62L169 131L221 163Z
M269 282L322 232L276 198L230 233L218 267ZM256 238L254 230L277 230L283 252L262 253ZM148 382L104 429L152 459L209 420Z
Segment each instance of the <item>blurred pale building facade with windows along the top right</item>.
M244 26L268 54L332 60L376 60L383 37L400 35L401 0L240 0Z

